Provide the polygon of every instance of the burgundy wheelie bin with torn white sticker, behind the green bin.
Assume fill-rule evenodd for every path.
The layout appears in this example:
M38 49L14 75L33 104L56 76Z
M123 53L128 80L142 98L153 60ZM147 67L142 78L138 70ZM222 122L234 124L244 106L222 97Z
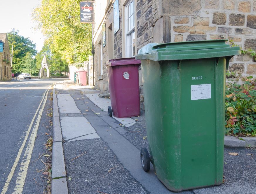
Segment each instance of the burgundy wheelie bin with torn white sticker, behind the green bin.
M111 106L108 115L118 118L140 115L139 70L140 60L132 58L110 59L108 86Z

